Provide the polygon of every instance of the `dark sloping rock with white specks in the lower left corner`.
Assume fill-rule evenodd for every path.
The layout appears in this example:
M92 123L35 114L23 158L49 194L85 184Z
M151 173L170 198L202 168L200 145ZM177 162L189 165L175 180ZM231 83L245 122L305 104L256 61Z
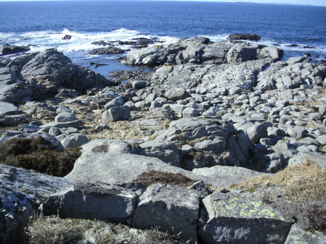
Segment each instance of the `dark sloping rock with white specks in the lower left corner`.
M69 180L61 177L53 177L26 169L16 168L0 164L0 239L2 243L15 243L12 236L8 236L8 230L12 225L7 222L13 216L19 219L21 214L32 215L39 203L57 191L68 187ZM37 183L36 183L37 182ZM25 210L22 210L25 207ZM21 210L19 210L21 209ZM4 211L3 211L4 210Z

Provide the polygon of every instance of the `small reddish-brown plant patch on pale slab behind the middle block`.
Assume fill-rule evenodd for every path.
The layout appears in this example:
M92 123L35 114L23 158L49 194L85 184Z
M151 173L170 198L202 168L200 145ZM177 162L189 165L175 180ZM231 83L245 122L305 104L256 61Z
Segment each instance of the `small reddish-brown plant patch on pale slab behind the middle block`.
M174 174L151 170L138 175L132 182L142 182L146 187L157 183L189 187L192 186L196 180L189 179L181 173Z

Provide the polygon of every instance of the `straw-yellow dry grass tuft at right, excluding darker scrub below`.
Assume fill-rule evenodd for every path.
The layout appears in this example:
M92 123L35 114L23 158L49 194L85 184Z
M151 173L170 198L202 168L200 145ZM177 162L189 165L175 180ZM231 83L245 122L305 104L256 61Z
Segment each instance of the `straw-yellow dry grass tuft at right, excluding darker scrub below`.
M311 160L287 167L272 176L258 176L231 185L230 189L253 192L263 186L282 186L284 196L293 201L318 199L326 193L326 170Z

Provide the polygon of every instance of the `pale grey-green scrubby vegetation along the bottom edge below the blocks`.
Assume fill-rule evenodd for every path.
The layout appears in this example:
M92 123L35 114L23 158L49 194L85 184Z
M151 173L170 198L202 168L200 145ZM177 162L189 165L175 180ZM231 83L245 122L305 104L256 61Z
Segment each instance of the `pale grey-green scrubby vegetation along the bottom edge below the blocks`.
M181 243L168 233L157 229L138 230L105 221L60 219L42 217L30 223L31 244L100 243L100 244L177 244Z

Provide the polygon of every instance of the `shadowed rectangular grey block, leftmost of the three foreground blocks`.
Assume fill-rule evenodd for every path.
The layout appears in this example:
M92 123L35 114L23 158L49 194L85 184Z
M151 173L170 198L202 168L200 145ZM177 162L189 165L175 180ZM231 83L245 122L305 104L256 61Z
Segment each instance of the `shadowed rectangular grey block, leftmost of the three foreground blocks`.
M131 190L108 184L73 184L43 204L47 215L61 218L100 219L123 223L131 217L138 196Z

